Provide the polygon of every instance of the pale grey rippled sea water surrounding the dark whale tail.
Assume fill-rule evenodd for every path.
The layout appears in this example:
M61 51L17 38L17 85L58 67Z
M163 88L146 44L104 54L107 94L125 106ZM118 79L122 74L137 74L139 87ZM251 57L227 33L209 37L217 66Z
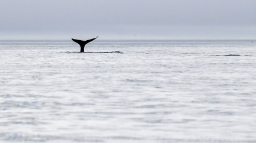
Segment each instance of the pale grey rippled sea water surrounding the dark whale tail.
M256 142L251 41L0 42L0 142Z

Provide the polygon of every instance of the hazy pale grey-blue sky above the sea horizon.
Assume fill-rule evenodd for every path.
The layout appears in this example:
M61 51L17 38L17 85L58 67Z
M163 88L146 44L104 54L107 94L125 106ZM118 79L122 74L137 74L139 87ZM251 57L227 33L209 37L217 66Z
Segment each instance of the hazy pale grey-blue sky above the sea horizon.
M1 0L0 9L0 40L256 40L255 0Z

